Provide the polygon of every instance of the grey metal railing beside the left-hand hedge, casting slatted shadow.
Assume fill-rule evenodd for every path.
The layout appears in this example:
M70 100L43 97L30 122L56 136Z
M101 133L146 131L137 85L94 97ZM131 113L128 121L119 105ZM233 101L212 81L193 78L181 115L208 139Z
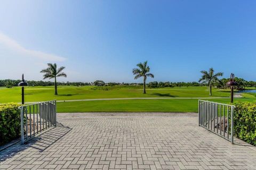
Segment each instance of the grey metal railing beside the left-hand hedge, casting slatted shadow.
M21 143L57 125L56 100L20 106Z

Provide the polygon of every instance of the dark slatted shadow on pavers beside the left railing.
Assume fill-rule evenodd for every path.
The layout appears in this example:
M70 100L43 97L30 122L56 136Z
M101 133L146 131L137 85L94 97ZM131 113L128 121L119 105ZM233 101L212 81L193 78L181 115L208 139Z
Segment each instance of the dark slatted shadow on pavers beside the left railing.
M19 152L28 148L33 148L39 152L43 152L45 149L49 148L51 145L53 145L53 143L57 142L71 130L72 129L68 126L63 126L61 123L57 122L57 127L44 132L43 134L29 140L28 142L25 142L24 145L21 145L21 143L18 142L0 151L0 163L7 158L11 158Z

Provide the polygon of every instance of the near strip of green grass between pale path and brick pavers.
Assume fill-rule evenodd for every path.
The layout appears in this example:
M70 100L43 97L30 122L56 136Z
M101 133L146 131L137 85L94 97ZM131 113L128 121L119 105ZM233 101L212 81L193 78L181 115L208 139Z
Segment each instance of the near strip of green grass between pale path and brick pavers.
M210 99L230 103L230 99ZM235 101L253 101L239 98ZM198 99L133 99L57 103L58 112L197 112Z

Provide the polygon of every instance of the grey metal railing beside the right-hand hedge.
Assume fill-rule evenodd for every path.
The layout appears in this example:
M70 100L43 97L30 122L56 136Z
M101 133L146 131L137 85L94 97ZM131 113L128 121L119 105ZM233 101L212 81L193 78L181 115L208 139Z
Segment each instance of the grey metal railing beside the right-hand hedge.
M234 108L233 105L198 100L199 126L234 143Z

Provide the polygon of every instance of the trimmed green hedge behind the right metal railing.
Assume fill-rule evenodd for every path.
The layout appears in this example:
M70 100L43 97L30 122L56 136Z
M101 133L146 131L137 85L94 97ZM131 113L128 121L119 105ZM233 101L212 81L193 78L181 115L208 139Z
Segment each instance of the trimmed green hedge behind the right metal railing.
M256 146L256 104L236 102L234 105L235 137Z

